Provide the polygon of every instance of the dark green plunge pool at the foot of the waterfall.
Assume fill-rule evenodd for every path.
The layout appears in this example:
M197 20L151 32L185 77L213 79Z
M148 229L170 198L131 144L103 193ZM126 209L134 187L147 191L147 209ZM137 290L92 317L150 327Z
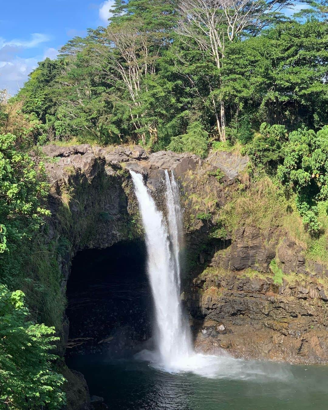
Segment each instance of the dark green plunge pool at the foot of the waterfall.
M138 360L70 358L90 393L115 410L323 410L328 409L328 367L219 359L203 377L170 374ZM214 371L213 371L214 370Z

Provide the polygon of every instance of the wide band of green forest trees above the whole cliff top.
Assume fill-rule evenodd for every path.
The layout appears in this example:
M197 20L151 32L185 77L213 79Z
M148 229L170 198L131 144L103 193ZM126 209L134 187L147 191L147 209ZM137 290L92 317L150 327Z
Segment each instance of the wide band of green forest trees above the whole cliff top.
M181 16L173 3L117 1L107 27L75 37L57 59L40 62L16 101L23 114L40 121L40 144L72 137L97 144L141 141L153 151L169 147L204 156L209 138L202 133L217 148L221 102L231 144L250 143L263 122L317 131L328 123L328 26L326 6L309 3L320 18L298 22L263 14L267 24L255 18L257 27L233 41L223 19L218 65L211 48L198 47L207 42L204 33L193 39L177 30ZM280 141L262 135L254 144L254 157L263 153L262 162L271 167Z

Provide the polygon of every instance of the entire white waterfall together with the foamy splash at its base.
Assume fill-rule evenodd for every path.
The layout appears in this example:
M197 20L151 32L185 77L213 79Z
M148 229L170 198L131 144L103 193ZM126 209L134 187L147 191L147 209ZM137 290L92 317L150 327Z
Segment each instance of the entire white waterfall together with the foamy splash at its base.
M179 247L183 226L178 184L173 172L170 178L165 171L166 221L142 176L130 173L146 234L148 276L157 322L157 351L143 352L139 358L150 360L166 371L188 371L208 378L247 380L267 376L265 366L256 362L234 359L225 353L220 356L195 353L180 301ZM279 372L278 377L289 377L289 372Z

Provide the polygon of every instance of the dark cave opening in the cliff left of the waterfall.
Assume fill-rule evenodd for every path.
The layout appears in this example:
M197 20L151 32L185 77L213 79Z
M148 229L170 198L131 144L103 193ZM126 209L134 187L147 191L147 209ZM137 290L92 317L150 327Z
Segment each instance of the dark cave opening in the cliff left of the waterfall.
M66 358L123 357L149 343L152 298L143 242L79 251L67 283Z

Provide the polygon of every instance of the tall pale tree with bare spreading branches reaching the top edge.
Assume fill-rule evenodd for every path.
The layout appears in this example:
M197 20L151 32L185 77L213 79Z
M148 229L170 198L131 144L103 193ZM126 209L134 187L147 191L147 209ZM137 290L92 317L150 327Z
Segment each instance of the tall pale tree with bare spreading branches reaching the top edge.
M254 32L269 24L279 10L289 1L263 0L180 0L181 13L179 34L185 36L199 50L206 50L221 70L225 56L225 44L234 41L247 30ZM225 106L219 92L219 107L212 96L217 131L221 141L225 141Z

